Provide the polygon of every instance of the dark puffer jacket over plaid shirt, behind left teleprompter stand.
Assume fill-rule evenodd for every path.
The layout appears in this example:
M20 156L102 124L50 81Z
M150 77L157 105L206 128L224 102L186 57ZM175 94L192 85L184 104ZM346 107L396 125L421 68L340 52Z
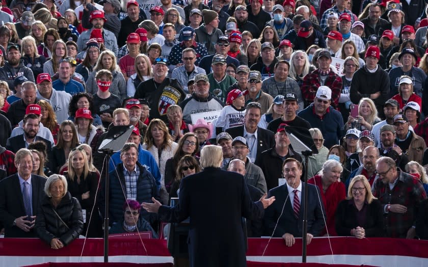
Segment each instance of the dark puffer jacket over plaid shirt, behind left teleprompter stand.
M156 186L156 181L154 180L153 176L149 171L147 171L146 167L141 165L139 162L137 162L137 168L140 169L140 176L137 180L137 198L136 200L139 203L142 202L152 202L151 198L154 197L156 199L159 199L159 193ZM123 217L123 203L126 201L126 182L125 182L125 176L123 174L123 163L119 163L116 166L116 169L112 170L109 173L110 178L110 192L109 192L109 198L110 198L110 207L109 207L109 218L110 218L110 225L112 225L114 222L120 222L120 220ZM123 188L123 191L122 191ZM125 196L123 195L123 192L125 192ZM101 212L101 215L104 216L104 208L105 208L105 180L102 180L101 183L101 191L100 198L98 201L99 204L99 210ZM152 220L149 220L151 217L149 215L149 212L145 211L144 209L141 209L141 215L144 219L148 220L149 222L152 222ZM151 217L153 218L153 217Z

